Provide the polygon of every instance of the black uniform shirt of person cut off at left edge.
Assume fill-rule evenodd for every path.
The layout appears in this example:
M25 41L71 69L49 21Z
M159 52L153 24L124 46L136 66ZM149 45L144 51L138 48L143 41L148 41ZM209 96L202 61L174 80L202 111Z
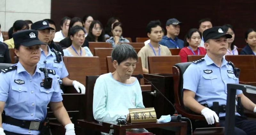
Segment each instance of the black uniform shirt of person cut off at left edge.
M0 42L0 63L12 63L8 45Z

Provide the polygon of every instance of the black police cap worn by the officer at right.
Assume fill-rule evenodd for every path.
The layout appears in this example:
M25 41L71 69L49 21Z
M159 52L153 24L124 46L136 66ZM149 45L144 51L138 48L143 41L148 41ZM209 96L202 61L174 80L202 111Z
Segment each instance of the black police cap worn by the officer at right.
M223 26L208 28L203 32L204 42L207 41L208 39L216 39L222 36L225 36L227 38L232 38L232 35L226 34L226 33L227 33L227 28Z

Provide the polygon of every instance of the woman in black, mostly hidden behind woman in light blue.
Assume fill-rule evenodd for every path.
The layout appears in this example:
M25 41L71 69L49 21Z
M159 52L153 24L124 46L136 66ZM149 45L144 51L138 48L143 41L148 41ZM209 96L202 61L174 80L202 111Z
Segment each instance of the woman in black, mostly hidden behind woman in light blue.
M74 27L76 25L83 27L83 21L81 20L81 18L74 17L70 20L70 24L69 24L69 28L68 28L68 37L62 39L59 43L62 46L62 48L68 48L72 44L72 41L71 41L70 35L69 35L70 29L71 29L71 27ZM87 40L85 40L84 44L82 45L82 47L85 47L85 46L89 47L89 43Z

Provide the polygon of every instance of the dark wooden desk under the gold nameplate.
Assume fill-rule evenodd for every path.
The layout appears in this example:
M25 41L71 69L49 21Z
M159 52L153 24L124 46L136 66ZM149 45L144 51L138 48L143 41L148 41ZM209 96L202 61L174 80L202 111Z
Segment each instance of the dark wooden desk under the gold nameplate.
M77 124L82 128L88 128L90 125L92 126L93 123L87 122L85 120L77 120ZM93 125L94 126L94 125ZM92 127L93 127L92 126ZM134 124L124 124L124 125L116 125L110 123L96 123L99 129L114 129L115 135L125 135L126 129L133 129L133 128L163 128L163 127L177 127L176 135L186 135L187 134L187 122L170 122L170 123L134 123ZM95 127L93 127L95 128ZM108 131L109 132L109 131Z

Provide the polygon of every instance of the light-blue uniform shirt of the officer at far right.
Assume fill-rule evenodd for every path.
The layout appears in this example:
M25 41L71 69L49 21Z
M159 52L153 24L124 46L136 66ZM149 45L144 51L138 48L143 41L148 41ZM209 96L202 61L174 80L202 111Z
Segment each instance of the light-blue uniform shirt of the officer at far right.
M183 90L195 92L196 101L200 104L206 103L209 107L214 101L219 102L219 105L226 105L227 83L238 82L227 60L222 59L219 68L207 54L204 60L198 60L189 65L183 74ZM236 91L236 95L241 93L241 90ZM220 113L221 116L225 116L225 113Z

